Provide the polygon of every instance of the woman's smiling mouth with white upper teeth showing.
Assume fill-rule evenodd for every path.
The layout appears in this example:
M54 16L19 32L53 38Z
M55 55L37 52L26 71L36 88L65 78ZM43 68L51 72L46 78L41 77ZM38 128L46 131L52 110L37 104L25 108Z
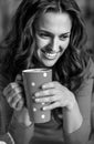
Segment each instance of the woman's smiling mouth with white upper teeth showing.
M50 60L53 60L56 58L58 53L59 52L53 52L53 51L46 51L46 50L41 50L43 55L46 58L46 59L50 59Z

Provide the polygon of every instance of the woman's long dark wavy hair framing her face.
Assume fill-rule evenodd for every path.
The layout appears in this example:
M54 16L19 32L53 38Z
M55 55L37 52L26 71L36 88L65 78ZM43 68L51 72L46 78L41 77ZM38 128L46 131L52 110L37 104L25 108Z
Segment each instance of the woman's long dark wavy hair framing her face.
M48 11L65 11L72 18L70 44L53 66L54 80L69 83L71 78L81 75L86 66L87 58L83 54L83 45L86 41L85 24L76 2L74 0L22 0L12 19L10 32L0 47L0 61L3 63L1 70L9 75L10 81L14 80L17 73L28 69L33 61L34 24L36 18Z

